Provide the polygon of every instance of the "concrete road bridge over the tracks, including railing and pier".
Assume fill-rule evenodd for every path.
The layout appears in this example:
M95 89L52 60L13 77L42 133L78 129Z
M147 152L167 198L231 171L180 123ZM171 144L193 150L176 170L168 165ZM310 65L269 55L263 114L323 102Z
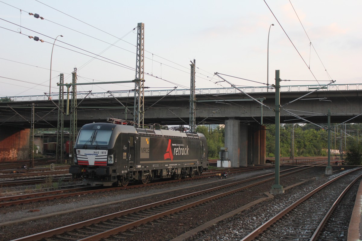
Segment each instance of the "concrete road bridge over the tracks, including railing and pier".
M280 123L327 123L328 109L331 110L331 123L362 122L362 84L321 87L281 86ZM196 89L196 124L225 125L225 146L232 167L265 163L265 124L275 123L275 89L240 89L244 93L235 88ZM105 122L109 117L133 120L134 92L76 96L78 127ZM14 158L13 154L6 153L14 153L14 148L26 145L27 139L29 142L32 113L34 128L57 128L59 96L51 97L52 100L45 95L0 99L0 161L5 160L1 156ZM144 91L144 124L188 125L189 106L190 90ZM63 119L64 127L69 127L70 116L63 115Z

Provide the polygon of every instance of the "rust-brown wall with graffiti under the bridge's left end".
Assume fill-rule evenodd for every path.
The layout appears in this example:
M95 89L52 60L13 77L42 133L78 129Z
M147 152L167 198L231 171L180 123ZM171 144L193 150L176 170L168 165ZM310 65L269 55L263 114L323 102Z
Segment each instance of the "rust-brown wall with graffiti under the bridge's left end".
M0 162L29 159L30 129L0 127Z

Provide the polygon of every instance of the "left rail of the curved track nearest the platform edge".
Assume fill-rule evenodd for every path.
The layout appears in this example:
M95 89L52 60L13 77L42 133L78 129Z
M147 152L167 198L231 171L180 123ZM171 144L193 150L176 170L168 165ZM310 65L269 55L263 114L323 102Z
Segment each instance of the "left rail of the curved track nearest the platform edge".
M355 169L352 172L355 171L359 171L361 170L361 168ZM326 182L325 184L319 186L318 188L314 189L313 191L311 191L310 193L308 193L307 195L305 195L304 197L298 199L296 202L292 203L290 206L286 207L284 210L282 210L281 212L279 212L278 214L274 215L273 218L269 219L268 221L266 221L265 223L263 223L262 225L260 225L259 227L257 227L256 229L254 229L253 232L249 233L247 236L245 236L243 239L241 239L241 241L252 241L254 240L256 237L258 237L262 232L264 232L266 229L268 229L271 225L273 225L276 221L278 221L279 219L281 219L283 216L285 216L288 212L290 212L291 210L293 210L296 206L298 206L300 203L306 201L308 198L310 198L313 194L317 193L318 191L320 191L321 189L325 188L326 186L328 186L329 184L333 183L334 181L349 175L351 172L347 172L344 173L336 178L333 178L332 180Z

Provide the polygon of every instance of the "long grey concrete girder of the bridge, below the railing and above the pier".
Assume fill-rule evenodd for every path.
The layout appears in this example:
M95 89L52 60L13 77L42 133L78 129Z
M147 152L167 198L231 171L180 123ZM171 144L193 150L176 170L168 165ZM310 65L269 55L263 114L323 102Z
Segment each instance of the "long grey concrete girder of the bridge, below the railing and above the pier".
M307 93L307 92L306 92ZM287 92L281 95L281 105L303 95L303 92ZM264 104L275 108L274 93L251 94L254 98L265 98ZM281 124L302 122L294 115L314 123L327 123L327 111L331 109L331 122L362 122L362 91L321 91L308 95L281 108ZM163 99L161 99L163 98ZM197 95L195 122L199 124L223 124L235 118L240 122L258 124L261 122L261 105L247 100L241 94ZM161 99L161 100L160 100ZM133 119L133 97L85 99L77 108L77 126L87 123L104 122L106 118ZM156 103L157 102L157 103ZM58 110L49 100L26 102L1 102L0 126L30 128L31 103L35 103L35 128L56 128ZM152 106L152 107L151 107ZM149 108L150 107L150 108ZM145 96L144 123L163 125L188 125L189 96ZM274 112L263 107L263 124L274 124ZM360 115L360 116L358 116ZM357 117L356 117L357 116ZM355 117L355 118L353 118ZM353 119L352 119L353 118ZM64 127L70 126L70 117L64 116Z

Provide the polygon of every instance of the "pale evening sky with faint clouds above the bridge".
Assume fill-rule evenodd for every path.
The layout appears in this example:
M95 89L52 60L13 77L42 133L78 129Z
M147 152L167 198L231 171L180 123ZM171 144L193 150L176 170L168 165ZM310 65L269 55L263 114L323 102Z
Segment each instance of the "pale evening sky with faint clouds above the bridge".
M281 85L322 85L331 80L362 83L362 1L265 2L0 0L0 97L49 92L51 50L58 35L64 37L57 38L52 54L52 92L59 91L59 73L64 73L65 82L71 82L73 68L77 68L78 83L134 79L137 39L133 29L139 22L145 26L144 72L153 75L144 76L144 85L150 90L189 88L193 59L198 68L197 89L230 87L219 82L215 72L260 82L224 77L235 85L265 86L272 23L270 84L276 69L281 79L291 80ZM29 35L45 42L29 39ZM99 54L108 62L81 53ZM77 90L95 93L133 88L133 83L125 83L79 86Z

